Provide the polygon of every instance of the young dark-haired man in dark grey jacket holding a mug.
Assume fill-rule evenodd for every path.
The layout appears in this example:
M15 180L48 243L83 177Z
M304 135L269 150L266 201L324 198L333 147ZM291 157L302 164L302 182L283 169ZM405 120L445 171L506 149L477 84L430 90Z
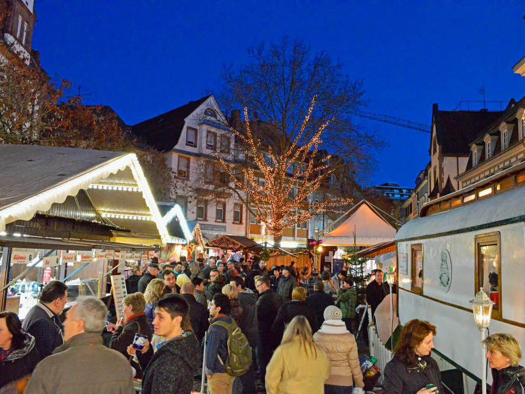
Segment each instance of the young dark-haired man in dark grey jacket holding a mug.
M154 334L165 337L153 353L149 343L137 351L128 347L128 354L137 354L144 371L142 394L187 393L192 390L193 376L201 364L201 349L193 331L183 331L182 321L188 314L188 303L178 294L163 297L155 308Z

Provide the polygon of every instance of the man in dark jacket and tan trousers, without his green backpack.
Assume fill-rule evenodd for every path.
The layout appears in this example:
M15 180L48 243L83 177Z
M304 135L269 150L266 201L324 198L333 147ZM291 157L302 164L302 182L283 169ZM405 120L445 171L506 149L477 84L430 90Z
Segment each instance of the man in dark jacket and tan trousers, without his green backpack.
M229 316L230 302L228 297L222 293L215 294L212 303L209 305L209 314L213 319L210 322L206 343L208 389L211 394L230 393L233 389L235 377L226 374L223 363L220 362L220 360L224 362L228 358L228 330L214 324L217 321L235 324L235 320Z

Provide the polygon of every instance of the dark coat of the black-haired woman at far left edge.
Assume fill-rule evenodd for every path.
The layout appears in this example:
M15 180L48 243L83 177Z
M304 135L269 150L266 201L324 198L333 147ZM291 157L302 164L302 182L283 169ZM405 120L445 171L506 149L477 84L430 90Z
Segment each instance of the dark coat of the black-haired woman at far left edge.
M0 388L33 372L40 361L35 344L35 337L26 334L22 347L11 350L5 360L0 359Z

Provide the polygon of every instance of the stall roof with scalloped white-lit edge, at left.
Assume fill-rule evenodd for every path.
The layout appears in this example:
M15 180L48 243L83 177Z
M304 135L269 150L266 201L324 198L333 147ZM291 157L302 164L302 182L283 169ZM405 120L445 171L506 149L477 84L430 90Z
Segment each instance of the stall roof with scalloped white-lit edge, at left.
M133 153L0 144L0 168L0 232L86 190L104 223L171 239Z

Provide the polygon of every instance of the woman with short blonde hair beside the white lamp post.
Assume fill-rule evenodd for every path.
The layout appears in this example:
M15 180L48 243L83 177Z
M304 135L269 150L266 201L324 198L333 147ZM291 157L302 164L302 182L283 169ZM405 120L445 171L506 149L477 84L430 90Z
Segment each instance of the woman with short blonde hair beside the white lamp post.
M492 372L492 394L525 392L525 368L519 365L521 347L510 334L492 334L481 342L487 348Z

